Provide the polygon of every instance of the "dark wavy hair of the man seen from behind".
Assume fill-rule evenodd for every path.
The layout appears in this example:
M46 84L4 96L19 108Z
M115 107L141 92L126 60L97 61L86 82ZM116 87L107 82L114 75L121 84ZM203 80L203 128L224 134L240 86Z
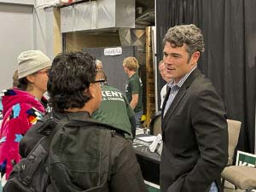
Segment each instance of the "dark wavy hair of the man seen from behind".
M85 95L96 78L95 58L84 52L61 53L55 56L49 69L47 90L49 103L55 111L83 108L90 100Z

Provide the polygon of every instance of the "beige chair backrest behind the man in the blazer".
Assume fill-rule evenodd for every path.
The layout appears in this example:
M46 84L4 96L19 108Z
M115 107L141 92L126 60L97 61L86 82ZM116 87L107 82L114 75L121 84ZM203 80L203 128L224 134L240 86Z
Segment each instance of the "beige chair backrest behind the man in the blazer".
M235 148L238 142L238 137L241 129L241 121L227 119L229 132L229 161L228 166L232 165Z

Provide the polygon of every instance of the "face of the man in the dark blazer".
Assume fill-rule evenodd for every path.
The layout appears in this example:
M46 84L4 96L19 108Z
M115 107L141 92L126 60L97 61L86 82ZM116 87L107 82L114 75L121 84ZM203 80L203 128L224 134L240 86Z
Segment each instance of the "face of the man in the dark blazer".
M195 67L200 56L200 52L196 51L189 59L186 46L183 44L182 47L173 47L169 42L165 44L163 60L166 64L166 76L173 79L175 83Z

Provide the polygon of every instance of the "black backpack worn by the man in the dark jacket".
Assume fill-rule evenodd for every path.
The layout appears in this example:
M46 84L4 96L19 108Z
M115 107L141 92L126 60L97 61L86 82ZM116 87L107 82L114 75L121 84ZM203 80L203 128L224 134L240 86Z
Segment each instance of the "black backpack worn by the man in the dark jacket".
M46 117L40 121L38 131L42 137L27 157L22 158L14 166L9 180L3 187L3 192L44 192L49 186L47 161L50 143L55 132L67 124L68 119L61 119L56 123L54 119Z

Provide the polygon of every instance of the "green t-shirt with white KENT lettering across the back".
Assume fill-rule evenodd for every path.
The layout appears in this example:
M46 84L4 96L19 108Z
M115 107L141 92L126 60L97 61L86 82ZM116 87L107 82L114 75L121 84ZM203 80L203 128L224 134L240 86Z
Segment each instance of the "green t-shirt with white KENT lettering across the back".
M119 130L125 130L130 133L126 138L132 138L130 118L134 116L127 98L120 90L117 90L108 84L102 87L102 103L94 113L92 118L112 125Z

